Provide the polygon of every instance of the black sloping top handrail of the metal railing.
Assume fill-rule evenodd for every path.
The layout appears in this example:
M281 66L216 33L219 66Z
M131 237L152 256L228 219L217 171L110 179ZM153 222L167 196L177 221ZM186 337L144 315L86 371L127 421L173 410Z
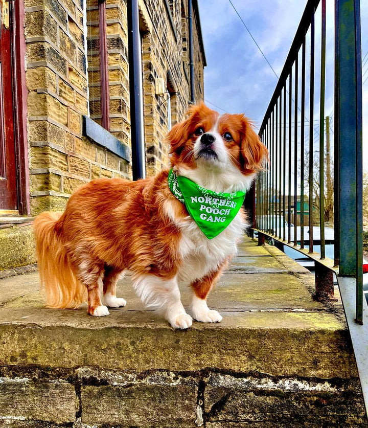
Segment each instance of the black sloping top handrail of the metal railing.
M310 26L311 14L314 15L314 12L317 9L319 2L320 2L320 0L309 0L307 3L307 6L304 9L302 19L300 21L300 24L299 24L297 30L296 30L294 40L291 43L291 48L290 48L290 51L289 51L288 56L286 58L282 72L280 74L279 81L277 82L277 85L276 85L275 90L273 92L271 101L268 104L268 107L267 107L267 110L266 110L266 113L265 113L265 116L264 116L264 119L263 119L263 122L262 122L262 125L260 128L260 132L266 126L268 117L270 116L270 112L272 111L273 106L275 104L275 100L277 100L277 98L281 94L282 88L285 84L285 81L286 81L288 75L289 75L290 69L291 69L291 67L295 61L295 52L298 52L298 50L302 46L303 39L304 39L305 35L307 34L308 28Z

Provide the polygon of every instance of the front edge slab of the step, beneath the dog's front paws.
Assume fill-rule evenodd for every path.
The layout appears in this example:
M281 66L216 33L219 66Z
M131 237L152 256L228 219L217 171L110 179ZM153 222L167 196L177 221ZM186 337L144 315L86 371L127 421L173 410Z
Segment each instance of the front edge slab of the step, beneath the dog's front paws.
M214 367L280 376L356 376L349 334L332 314L227 312L218 325L195 323L188 331L174 331L149 312L111 312L106 320L95 320L84 309L3 308L0 361L134 371Z

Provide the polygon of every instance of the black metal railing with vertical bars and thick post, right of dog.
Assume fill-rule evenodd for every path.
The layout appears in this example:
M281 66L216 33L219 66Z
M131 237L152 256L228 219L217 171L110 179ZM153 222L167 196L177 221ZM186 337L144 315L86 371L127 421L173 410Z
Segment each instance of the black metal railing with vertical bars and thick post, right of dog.
M367 403L359 0L335 0L334 9L333 142L332 115L325 138L326 0L309 0L259 131L270 166L256 181L254 230L260 244L269 237L315 261L317 298L331 297L336 274Z

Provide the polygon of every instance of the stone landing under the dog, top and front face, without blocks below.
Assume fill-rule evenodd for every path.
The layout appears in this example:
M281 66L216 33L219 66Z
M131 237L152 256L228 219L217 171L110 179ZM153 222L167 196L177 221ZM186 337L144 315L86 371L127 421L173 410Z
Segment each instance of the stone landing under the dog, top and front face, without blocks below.
M285 273L281 258L285 256L273 256L267 247L247 239L209 297L223 321L194 322L187 331L172 329L146 310L129 276L118 284L127 306L111 309L103 318L87 316L85 306L42 307L36 273L3 279L0 360L7 365L88 365L137 372L212 367L280 376L355 377L346 326L311 298L307 285L312 275L304 268L300 272L291 260ZM188 306L188 287L182 287L182 300Z

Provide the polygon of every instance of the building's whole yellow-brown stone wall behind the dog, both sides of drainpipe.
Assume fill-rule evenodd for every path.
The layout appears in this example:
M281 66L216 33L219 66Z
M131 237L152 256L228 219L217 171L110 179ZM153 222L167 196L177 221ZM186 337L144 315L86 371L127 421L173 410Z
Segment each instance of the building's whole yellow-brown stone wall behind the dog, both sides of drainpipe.
M167 97L155 95L155 79L162 77L166 82L170 76L170 86L177 93L171 98L172 123L183 118L190 99L187 2L168 0L168 5L169 9L165 0L147 5L140 0L147 175L169 163L164 142ZM107 0L106 19L110 131L130 146L126 0ZM62 210L68 197L90 179L131 178L131 165L82 137L88 89L90 116L101 120L98 0L25 0L25 24L31 214L35 215ZM196 76L202 79L198 40L195 50ZM198 92L197 100L202 98Z

